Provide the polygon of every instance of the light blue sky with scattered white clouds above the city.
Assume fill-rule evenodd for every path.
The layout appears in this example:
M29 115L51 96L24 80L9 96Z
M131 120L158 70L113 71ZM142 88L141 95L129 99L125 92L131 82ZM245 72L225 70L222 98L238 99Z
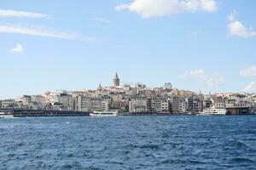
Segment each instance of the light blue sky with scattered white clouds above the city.
M255 0L1 0L0 99L122 83L256 92Z

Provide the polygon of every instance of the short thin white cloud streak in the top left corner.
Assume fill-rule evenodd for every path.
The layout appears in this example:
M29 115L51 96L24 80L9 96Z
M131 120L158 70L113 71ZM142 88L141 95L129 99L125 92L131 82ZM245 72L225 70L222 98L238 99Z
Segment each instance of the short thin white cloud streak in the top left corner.
M4 10L0 9L0 17L16 17L16 18L47 18L47 14L32 13L25 11L15 11L15 10Z

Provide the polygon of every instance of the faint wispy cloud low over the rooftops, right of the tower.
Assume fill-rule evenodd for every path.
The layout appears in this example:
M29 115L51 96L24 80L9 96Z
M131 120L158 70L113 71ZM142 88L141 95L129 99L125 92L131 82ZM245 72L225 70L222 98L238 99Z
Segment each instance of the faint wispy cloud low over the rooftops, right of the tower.
M199 79L204 82L207 87L220 86L224 84L224 77L219 76L217 72L207 74L207 72L202 68L193 71L185 71L183 77Z

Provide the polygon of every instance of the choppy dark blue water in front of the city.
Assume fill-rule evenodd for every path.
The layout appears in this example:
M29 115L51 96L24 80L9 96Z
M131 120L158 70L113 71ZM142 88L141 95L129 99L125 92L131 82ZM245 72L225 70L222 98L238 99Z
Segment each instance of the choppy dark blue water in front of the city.
M0 119L0 169L256 169L256 116Z

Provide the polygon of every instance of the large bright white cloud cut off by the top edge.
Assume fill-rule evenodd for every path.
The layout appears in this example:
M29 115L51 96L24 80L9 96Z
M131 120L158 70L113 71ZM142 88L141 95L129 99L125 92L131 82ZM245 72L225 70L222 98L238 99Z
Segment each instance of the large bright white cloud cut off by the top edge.
M130 4L119 4L116 10L128 9L142 15L143 18L160 17L183 12L217 10L215 0L134 0Z

